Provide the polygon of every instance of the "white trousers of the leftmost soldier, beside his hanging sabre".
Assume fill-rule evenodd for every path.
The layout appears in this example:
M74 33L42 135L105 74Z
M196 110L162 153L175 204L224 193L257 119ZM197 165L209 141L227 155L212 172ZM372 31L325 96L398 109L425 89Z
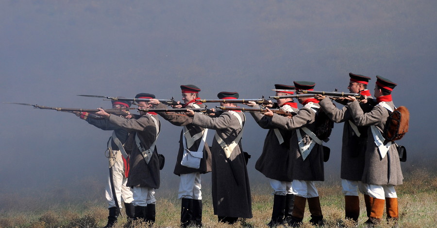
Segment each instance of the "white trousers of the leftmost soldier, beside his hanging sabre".
M116 162L114 163L114 166L112 166L114 177L109 177L108 175L108 182L105 187L105 196L106 200L108 201L108 208L117 207L115 205L114 198L112 197L111 183L109 182L110 178L112 178L114 180L115 192L119 204L118 206L122 208L122 202L131 203L134 198L132 197L131 188L126 186L127 178L124 176L125 169L121 153L119 150L114 150L114 152L116 153Z

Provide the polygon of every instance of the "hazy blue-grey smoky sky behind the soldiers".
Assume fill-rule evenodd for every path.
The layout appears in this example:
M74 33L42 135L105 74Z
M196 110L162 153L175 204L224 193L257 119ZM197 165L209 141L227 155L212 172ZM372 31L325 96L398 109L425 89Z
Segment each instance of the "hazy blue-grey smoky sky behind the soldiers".
M0 102L98 108L110 102L76 95L141 92L181 100L181 84L199 86L201 98L268 97L273 84L293 81L348 92L349 72L371 77L372 91L381 75L398 83L395 105L411 113L403 170L435 168L436 105L425 99L437 82L436 9L435 0L2 0ZM89 178L103 186L110 131L26 106L0 103L0 116L0 193ZM243 149L254 183L265 180L254 164L267 130L247 117ZM178 183L181 128L162 127L166 188ZM327 179L339 178L342 129L336 124L326 144Z

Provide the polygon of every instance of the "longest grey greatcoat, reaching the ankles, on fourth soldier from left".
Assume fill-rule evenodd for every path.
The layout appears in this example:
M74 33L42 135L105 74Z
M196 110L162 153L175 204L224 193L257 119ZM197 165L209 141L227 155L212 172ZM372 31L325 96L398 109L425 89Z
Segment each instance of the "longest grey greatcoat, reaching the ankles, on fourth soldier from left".
M241 131L238 118L229 112L211 118L195 113L193 124L214 129L227 145L231 144ZM244 124L244 114L237 112ZM221 217L252 218L252 199L246 162L241 141L234 148L229 159L214 137L212 143L212 198L214 214Z

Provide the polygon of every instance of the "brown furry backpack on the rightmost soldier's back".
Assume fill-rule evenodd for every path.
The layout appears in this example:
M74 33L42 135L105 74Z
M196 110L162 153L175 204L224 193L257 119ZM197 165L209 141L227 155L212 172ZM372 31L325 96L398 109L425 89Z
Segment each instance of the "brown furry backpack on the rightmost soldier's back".
M384 126L384 138L387 141L402 139L403 135L408 132L409 121L410 112L405 106L400 106L393 110L388 116L386 125Z

